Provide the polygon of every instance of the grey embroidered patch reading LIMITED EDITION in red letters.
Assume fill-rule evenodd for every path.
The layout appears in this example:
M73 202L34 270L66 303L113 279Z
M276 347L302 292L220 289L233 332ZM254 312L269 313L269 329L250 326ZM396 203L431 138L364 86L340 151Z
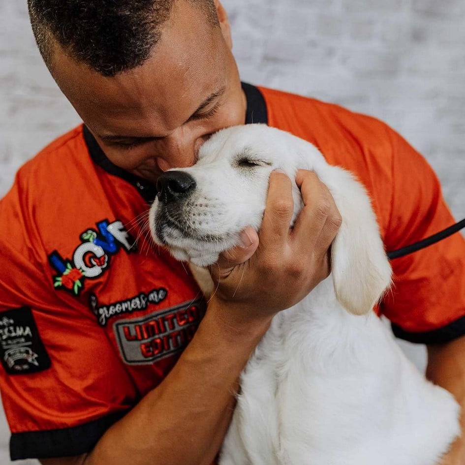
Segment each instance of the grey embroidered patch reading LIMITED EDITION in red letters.
M205 301L197 299L143 318L116 321L113 328L124 361L152 364L181 352L194 337L205 311Z

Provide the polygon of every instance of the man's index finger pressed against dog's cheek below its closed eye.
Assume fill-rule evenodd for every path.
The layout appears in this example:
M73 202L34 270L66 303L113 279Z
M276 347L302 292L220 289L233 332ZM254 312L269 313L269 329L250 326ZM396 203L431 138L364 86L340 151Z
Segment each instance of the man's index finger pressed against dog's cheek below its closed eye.
M293 212L291 180L283 172L273 171L260 230L260 241L264 248L273 247L272 244L279 247L287 241Z

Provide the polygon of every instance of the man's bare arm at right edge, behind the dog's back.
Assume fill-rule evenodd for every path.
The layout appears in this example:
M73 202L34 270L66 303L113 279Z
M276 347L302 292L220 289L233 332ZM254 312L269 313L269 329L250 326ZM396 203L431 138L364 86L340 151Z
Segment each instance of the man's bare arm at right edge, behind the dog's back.
M428 345L426 376L447 389L462 408L462 435L440 465L465 465L465 336L445 344Z

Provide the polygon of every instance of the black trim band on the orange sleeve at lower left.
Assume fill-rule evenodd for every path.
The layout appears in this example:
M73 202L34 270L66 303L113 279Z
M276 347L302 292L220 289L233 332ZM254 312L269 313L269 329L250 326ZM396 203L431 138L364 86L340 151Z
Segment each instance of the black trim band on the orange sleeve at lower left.
M112 413L71 428L14 433L10 439L11 460L72 457L90 452L105 431L125 414L126 411Z

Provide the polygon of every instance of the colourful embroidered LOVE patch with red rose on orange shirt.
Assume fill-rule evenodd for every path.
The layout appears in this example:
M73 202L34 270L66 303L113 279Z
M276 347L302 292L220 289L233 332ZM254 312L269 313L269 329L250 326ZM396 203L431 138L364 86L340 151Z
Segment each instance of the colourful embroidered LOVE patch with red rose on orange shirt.
M121 247L127 252L136 251L135 241L121 221L110 223L107 219L96 223L97 229L87 229L81 236L81 244L74 250L72 259L63 259L57 250L48 257L57 272L53 285L77 296L86 279L98 278L110 264L110 257Z

